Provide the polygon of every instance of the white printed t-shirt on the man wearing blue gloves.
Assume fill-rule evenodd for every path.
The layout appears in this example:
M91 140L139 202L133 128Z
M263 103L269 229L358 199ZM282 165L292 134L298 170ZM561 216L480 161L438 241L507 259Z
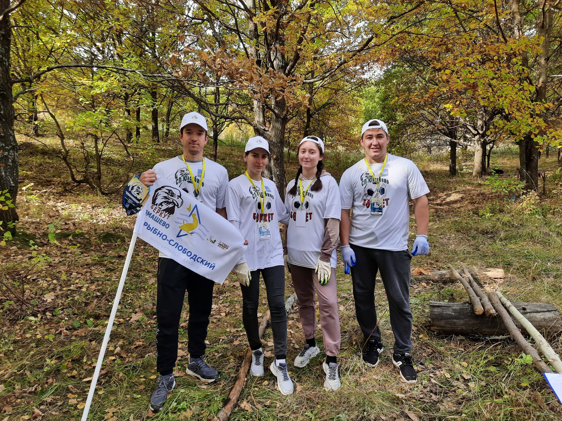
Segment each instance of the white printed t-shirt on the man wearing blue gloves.
M370 167L378 178L382 163L371 164ZM388 154L378 192L383 214L371 215L371 199L377 197L376 181L365 159L347 168L339 181L342 209L353 209L350 244L370 249L406 250L410 225L409 200L428 194L429 188L410 159Z

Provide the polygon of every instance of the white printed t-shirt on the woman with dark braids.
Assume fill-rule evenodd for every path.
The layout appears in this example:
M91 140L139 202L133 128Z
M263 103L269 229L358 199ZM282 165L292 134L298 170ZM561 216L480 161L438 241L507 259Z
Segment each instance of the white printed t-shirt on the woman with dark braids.
M320 258L320 249L324 242L325 219L341 219L342 207L339 198L338 184L334 177L325 174L320 177L322 189L306 192L304 208L306 213L306 227L297 227L296 211L301 206L301 187L297 183L297 194L285 195L285 208L289 213L287 228L287 261L305 268L316 268ZM303 190L310 181L302 180ZM287 192L292 189L294 180L289 181ZM336 249L330 258L330 266L335 268L337 263Z

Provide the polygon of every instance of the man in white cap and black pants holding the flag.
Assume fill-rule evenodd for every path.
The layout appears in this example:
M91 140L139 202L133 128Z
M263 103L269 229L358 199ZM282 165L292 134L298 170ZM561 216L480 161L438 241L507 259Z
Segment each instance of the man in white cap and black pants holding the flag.
M152 170L140 175L140 181L146 186L153 185L156 177L174 181L180 189L226 218L228 173L220 164L203 158L203 147L209 141L205 117L196 112L184 115L179 139L183 154L157 163ZM215 282L161 252L158 254L157 280L156 369L160 376L150 403L150 409L155 413L162 409L168 393L175 387L173 369L178 358L178 330L185 291L189 302L186 372L206 383L219 379L219 373L203 359Z

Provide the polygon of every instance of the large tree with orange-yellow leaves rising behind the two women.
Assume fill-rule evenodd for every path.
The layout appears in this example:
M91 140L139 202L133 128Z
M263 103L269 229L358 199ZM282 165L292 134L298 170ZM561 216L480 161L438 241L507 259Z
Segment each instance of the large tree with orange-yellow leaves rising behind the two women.
M315 90L345 75L365 75L377 60L374 49L395 35L394 22L419 7L316 0L194 3L185 11L189 31L176 76L188 84L197 76L202 85L234 91L229 118L269 140L280 190L285 130L294 109L309 107L306 86ZM186 93L198 101L193 89ZM206 111L214 113L212 107Z

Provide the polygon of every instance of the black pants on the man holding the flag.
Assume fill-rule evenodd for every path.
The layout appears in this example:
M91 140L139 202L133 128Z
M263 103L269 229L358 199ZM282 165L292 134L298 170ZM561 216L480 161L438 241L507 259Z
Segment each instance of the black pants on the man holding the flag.
M174 259L158 259L156 295L156 369L173 370L178 359L178 329L185 291L189 303L187 349L192 358L205 354L205 339L215 282L182 266Z

